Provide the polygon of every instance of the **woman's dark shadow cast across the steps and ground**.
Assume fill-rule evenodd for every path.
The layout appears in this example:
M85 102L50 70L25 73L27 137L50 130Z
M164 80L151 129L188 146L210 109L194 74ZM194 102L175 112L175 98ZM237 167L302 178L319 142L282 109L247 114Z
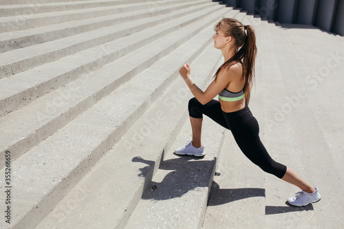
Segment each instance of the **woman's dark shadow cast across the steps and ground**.
M154 199L156 201L173 199L182 197L182 195L188 193L190 190L209 186L209 182L213 180L210 176L213 166L215 166L215 160L216 158L213 160L204 160L204 157L184 155L162 161L159 169L171 172L167 173L167 175L161 179L161 182L149 182L142 194L142 199ZM147 164L147 166L140 168L141 173L138 175L142 177L145 177L151 169L151 166L154 166L153 161L144 160L142 157L133 157L132 162ZM220 174L215 173L215 175ZM208 206L218 206L239 199L265 196L266 193L264 188L220 188L216 182L213 182ZM265 206L265 208L266 215L313 210L312 204L301 208L290 205Z

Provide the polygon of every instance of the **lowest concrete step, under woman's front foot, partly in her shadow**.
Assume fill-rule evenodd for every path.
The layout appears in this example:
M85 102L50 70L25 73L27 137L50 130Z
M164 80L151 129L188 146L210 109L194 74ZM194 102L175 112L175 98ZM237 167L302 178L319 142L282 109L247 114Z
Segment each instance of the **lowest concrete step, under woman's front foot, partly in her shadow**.
M247 23L252 20L252 17L242 18L242 14L227 14L226 17L241 18ZM151 225L156 228L201 228L224 128L205 118L202 129L203 142L208 151L204 160L193 160L193 157L182 157L180 160L171 153L167 154L144 190L126 228L149 228ZM188 120L173 143L173 149L184 145L191 138L190 133Z

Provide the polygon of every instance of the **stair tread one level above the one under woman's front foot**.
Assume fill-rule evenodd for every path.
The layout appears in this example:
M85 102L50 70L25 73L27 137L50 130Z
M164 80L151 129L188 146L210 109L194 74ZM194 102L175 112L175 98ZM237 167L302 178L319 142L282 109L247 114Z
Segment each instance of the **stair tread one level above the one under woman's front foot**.
M210 35L210 34L209 34ZM200 58L219 58L219 53L214 52L213 45L207 45L208 47L200 56L197 57L196 61ZM209 50L209 51L208 51ZM195 62L196 62L195 61ZM202 74L197 74L197 82L202 84L206 74L209 71L209 68L212 66L207 63L205 66L195 66L193 65L193 71L201 73L200 70L197 70L197 67L201 67ZM205 71L206 70L206 71ZM183 93L181 93L181 91ZM186 92L186 93L185 93ZM175 100L178 94L182 94L183 96L178 97L178 100ZM149 169L153 170L153 167L158 166L158 162L162 157L161 153L171 153L171 144L166 146L166 140L175 137L171 137L175 131L176 123L186 119L186 100L191 96L190 92L187 91L184 82L179 78L175 80L165 91L164 93L156 100L149 110L144 113L140 119L133 124L133 126L123 135L123 137L116 142L113 149L107 152L107 154L100 159L97 164L92 168L92 170L83 177L80 181L78 186L86 186L87 187L87 195L94 196L95 198L92 200L85 200L80 202L78 205L78 210L74 212L70 212L70 214L78 215L79 213L82 215L97 215L99 221L104 222L105 225L114 227L114 225L108 225L107 223L111 223L111 221L107 220L109 218L116 219L117 223L120 221L125 214L129 214L132 207L133 201L138 201L142 195L142 188L144 184L144 179L149 179L150 175ZM169 99L171 98L171 99ZM159 115L159 111L167 115L168 118L162 119L158 118L158 122L153 122L152 117L157 117ZM173 111L171 113L170 111ZM159 115L160 116L160 115ZM151 120L151 121L150 121ZM153 122L153 129L163 130L163 131L149 131L149 136L140 140L139 137L136 137L138 132L144 129L145 126L149 125ZM182 124L183 122L181 122ZM180 124L177 124L179 126ZM138 139L138 142L136 140ZM132 142L130 146L128 142ZM118 163L118 157L120 155L120 162ZM114 166L116 162L116 166ZM143 165L142 163L133 163L133 162L142 162L147 165ZM147 166L142 168L142 166ZM109 168L109 170L105 169ZM108 171L114 171L113 173L109 173ZM136 171L133 173L133 171ZM122 174L122 176L118 176L116 174ZM100 175L101 174L101 175ZM149 177L147 177L149 176ZM105 195L106 198L98 197L98 188L96 186L92 186L94 179L98 179L98 177L104 177L107 182L100 184L100 186L107 186L108 184L116 184L116 188L101 188L102 195ZM125 177L125 179L123 179ZM145 178L146 177L146 178ZM127 182L130 180L131 182ZM56 212L58 209L61 209L61 206L65 206L68 199L75 196L75 193L78 192L78 188L73 188L70 193L61 201L54 210L52 210L51 214L48 215L41 224L37 228L43 227L46 225L47 222L54 221L56 217ZM98 212L92 212L92 206L97 201L101 201L100 199L108 199L110 200L111 204L105 204L104 208ZM111 215L111 217L109 217ZM61 215L62 216L62 215ZM74 217L72 217L74 218ZM88 218L88 217L87 217ZM92 217L94 219L94 217ZM114 220L115 221L115 220ZM68 219L61 220L61 224L58 226L65 226L71 225L70 223L74 223L69 221ZM87 225L86 221L80 219L80 221L75 222L78 225ZM81 224L80 224L81 223ZM96 222L92 222L92 225Z

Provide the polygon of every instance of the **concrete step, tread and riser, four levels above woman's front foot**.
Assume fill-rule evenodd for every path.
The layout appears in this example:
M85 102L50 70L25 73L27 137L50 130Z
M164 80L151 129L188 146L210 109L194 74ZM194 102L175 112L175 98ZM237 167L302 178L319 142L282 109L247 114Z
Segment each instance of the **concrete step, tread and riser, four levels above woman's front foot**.
M119 31L118 33L115 32L117 36L125 34L125 32L130 29L141 31L109 43L104 43L103 45L88 48L83 52L66 56L58 61L47 63L25 72L15 74L14 76L1 79L0 89L3 93L0 95L0 114L3 115L14 109L18 109L32 102L32 100L39 98L39 96L54 91L54 89L62 87L79 76L92 72L132 50L142 45L146 45L151 42L153 38L158 39L162 37L164 32L173 32L175 29L192 23L219 8L216 4L212 4L211 6L205 10L202 10L202 7L196 7L180 10L180 12L173 12L160 17L157 16L153 19L147 19L146 24L144 24L144 22L141 24L146 30L138 28L135 22L118 25ZM199 12L195 12L197 9ZM180 17L182 14L189 15ZM159 22L155 20L159 20ZM139 22L136 21L136 23ZM152 26L153 23L157 25ZM126 26L130 24L132 28L128 29ZM85 56L87 56L87 58L85 58ZM6 55L3 55L3 58L5 57ZM54 74L51 74L52 72ZM10 85L15 85L15 87L10 88Z

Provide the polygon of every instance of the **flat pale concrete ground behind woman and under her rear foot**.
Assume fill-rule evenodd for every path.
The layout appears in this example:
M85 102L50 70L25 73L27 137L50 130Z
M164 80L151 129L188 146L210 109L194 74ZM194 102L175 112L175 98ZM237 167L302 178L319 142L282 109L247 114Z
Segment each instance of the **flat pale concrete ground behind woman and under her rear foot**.
M272 157L290 166L310 184L318 186L322 199L302 208L285 204L299 188L268 175L249 162L230 132L219 155L214 186L203 228L341 228L343 198L333 193L343 188L343 135L341 86L344 54L335 36L319 29L292 28L259 23L256 89L250 107L260 125L262 142ZM304 39L312 36L312 40ZM324 42L326 40L327 42ZM283 45L282 45L283 44ZM341 44L343 46L343 44ZM339 45L340 46L340 45ZM314 47L319 47L314 49ZM344 47L344 46L343 46ZM259 53L258 50L258 53ZM338 53L337 53L338 52ZM331 58L337 54L340 58ZM331 60L331 61L329 61ZM333 66L336 61L339 63ZM316 85L316 73L332 64L327 77ZM324 67L325 66L325 67ZM316 82L316 81L315 81ZM295 97L305 89L306 97ZM333 98L320 91L332 91Z

